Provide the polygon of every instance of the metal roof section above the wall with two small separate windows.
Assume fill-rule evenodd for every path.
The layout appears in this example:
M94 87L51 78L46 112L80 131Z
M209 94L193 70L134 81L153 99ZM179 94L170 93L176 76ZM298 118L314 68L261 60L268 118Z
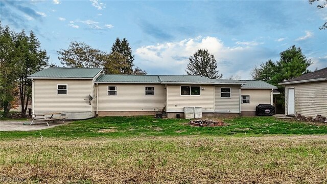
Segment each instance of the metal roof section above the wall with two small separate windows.
M97 83L160 83L158 76L153 75L101 75Z

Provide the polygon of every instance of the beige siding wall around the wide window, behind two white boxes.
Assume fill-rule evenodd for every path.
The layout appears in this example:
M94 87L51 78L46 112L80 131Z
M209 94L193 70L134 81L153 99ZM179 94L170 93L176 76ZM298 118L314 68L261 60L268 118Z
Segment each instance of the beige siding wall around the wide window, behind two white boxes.
M180 86L200 86L200 95L180 95ZM214 112L213 85L167 85L167 111L183 112L184 107L202 107L203 112ZM176 105L176 106L175 106Z

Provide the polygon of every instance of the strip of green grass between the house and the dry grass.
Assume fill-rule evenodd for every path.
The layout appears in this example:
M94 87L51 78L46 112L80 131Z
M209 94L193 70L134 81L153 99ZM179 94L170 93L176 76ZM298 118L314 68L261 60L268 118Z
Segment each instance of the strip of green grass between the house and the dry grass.
M39 137L140 137L140 136L261 136L267 134L326 134L327 126L284 121L273 117L225 118L227 126L195 127L185 119L154 119L150 116L101 117L75 121L38 131L2 131L1 140ZM29 125L26 125L29 126ZM33 126L33 125L32 125Z

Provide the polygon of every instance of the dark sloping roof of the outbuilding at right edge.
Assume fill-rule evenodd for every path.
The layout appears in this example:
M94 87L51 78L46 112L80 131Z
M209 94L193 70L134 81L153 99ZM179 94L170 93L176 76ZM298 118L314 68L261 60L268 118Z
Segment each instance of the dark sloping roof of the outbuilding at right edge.
M304 82L318 82L327 80L327 67L320 70L295 77L293 79L281 82L279 84L294 84L294 83L304 83Z

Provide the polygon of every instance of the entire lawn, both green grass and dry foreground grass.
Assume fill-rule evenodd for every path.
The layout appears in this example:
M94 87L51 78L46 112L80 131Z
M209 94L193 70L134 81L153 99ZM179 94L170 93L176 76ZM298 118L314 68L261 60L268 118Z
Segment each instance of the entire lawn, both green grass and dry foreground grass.
M1 181L327 182L326 125L272 117L222 120L227 126L104 117L39 131L0 132Z

